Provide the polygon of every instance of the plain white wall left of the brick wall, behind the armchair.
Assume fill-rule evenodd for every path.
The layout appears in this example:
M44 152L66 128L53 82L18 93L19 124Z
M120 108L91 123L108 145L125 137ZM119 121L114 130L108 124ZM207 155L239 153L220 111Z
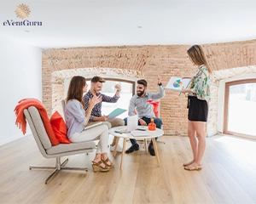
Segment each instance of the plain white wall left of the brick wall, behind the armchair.
M42 49L0 36L0 145L24 137L15 125L20 99L42 101ZM27 125L26 135L31 133Z

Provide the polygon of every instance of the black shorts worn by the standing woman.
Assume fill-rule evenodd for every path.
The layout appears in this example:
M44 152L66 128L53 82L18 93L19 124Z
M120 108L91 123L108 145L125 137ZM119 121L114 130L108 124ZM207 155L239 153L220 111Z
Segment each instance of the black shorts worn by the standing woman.
M206 100L197 99L196 96L188 97L189 121L207 122L208 104Z

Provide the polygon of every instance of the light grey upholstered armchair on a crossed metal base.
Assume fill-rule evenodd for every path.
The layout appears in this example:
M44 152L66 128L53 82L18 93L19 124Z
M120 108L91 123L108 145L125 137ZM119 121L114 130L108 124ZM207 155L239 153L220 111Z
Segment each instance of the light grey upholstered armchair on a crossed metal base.
M71 144L58 144L53 146L50 143L49 137L45 131L44 123L41 119L41 116L38 112L38 109L34 106L30 106L24 110L24 114L26 116L26 121L28 122L34 139L38 144L38 149L41 154L49 159L55 158L55 167L29 167L32 168L40 168L40 169L54 169L54 172L49 175L49 177L45 180L45 184L52 178L56 173L58 173L61 169L67 170L82 170L87 172L87 167L64 167L68 161L68 158L61 163L61 156L71 156L77 155L81 153L88 153L94 150L96 144L93 141L81 142L81 143L71 143Z

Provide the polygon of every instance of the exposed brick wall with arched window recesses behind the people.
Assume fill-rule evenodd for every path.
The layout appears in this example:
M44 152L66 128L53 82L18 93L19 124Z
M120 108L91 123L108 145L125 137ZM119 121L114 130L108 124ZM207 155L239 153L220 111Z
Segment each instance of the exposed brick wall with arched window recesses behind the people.
M207 134L217 132L219 71L256 65L256 41L227 42L202 45L212 66L212 101ZM157 75L164 86L170 77L193 76L197 67L192 65L186 50L190 45L121 46L93 48L47 49L43 54L43 103L49 116L61 110L64 79L73 75L108 75L114 77L145 78L148 91L156 92ZM241 68L242 69L242 68ZM246 68L244 68L246 69ZM234 71L234 70L233 70ZM250 72L250 70L248 70ZM253 73L253 69L252 72ZM255 71L254 71L255 72ZM241 72L239 72L241 74ZM166 134L187 134L187 99L166 90L160 101L160 116Z

